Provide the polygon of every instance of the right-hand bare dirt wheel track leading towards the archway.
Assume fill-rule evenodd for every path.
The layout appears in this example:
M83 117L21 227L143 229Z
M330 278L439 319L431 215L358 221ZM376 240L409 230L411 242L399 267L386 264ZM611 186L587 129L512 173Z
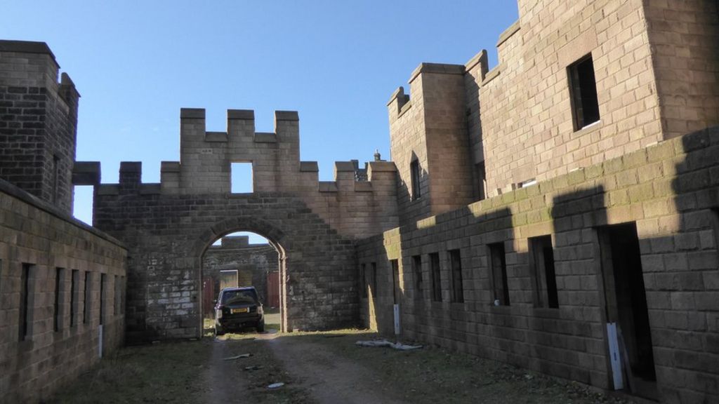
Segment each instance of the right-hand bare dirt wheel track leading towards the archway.
M321 344L286 337L268 338L267 344L299 387L317 403L405 403L380 387L379 375L331 354Z

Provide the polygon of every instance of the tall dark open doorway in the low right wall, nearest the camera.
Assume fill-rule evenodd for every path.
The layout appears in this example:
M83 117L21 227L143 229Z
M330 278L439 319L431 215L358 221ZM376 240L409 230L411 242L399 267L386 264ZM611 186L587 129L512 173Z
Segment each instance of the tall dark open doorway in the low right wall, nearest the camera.
M600 229L606 311L617 329L624 388L656 398L656 372L649 311L636 224Z

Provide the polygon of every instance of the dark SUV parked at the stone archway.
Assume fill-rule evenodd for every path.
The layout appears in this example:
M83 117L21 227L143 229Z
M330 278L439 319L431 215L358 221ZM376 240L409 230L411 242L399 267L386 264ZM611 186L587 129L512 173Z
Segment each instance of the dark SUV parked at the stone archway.
M246 326L255 327L258 332L265 331L265 316L257 290L252 286L220 290L215 305L215 335Z

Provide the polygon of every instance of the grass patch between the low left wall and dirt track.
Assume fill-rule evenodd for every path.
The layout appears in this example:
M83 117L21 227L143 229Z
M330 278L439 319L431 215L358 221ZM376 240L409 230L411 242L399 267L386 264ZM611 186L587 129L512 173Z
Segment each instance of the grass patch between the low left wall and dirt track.
M52 403L196 403L210 351L203 341L127 347L60 390Z

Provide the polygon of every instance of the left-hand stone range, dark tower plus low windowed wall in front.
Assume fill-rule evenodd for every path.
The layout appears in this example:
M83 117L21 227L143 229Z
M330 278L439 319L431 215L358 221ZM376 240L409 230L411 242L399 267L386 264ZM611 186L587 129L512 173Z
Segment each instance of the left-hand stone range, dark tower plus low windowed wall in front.
M0 403L47 400L124 342L127 250L69 216L78 97L47 45L0 41Z

